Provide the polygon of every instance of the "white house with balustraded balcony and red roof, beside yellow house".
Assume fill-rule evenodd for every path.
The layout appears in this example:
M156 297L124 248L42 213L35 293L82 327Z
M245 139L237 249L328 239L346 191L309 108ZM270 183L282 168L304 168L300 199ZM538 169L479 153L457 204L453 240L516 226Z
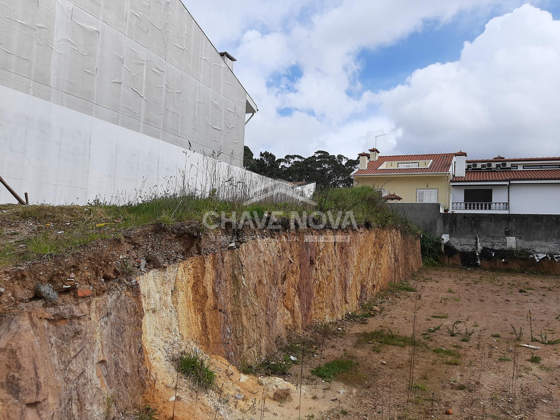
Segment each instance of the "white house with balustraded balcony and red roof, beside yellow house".
M467 160L451 180L450 212L560 214L560 157Z

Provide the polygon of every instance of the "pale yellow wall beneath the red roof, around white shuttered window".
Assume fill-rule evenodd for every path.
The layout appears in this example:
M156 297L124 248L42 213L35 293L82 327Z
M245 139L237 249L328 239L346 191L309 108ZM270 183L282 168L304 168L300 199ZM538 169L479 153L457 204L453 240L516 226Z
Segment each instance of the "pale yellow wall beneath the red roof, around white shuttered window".
M384 189L403 198L403 202L416 203L417 189L437 189L437 201L449 208L451 186L446 175L416 175L416 176L357 176L354 186L371 185Z

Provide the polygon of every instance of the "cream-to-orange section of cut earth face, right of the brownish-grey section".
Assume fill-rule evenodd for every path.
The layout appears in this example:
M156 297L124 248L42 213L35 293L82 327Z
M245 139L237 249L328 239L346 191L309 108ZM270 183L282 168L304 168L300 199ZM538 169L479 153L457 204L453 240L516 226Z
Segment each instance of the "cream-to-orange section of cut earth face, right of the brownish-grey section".
M286 233L152 270L139 279L144 334L180 334L207 353L254 362L277 337L342 318L421 266L417 241L394 230L323 238Z

